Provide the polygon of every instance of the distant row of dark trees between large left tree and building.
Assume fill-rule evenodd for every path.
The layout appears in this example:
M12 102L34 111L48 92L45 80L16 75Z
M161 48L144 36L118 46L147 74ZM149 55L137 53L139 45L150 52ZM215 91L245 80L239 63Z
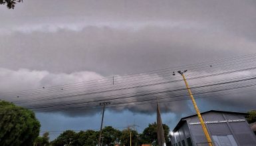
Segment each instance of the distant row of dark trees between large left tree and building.
M132 145L141 145L141 144L152 144L157 145L157 133L156 133L156 123L150 123L148 127L144 129L142 133L134 129L123 129L122 131L115 129L111 126L106 126L102 129L102 145L130 145L130 133L132 135ZM166 136L166 142L168 139L168 133L170 131L168 125L163 124L164 133ZM95 146L98 144L98 135L99 131L86 130L79 131L76 133L72 130L66 130L55 140L49 142L49 137L45 137L49 133L43 134L43 137L38 137L35 141L35 145L53 145L53 146L63 146L63 145L73 145L73 146ZM48 139L48 141L45 140Z

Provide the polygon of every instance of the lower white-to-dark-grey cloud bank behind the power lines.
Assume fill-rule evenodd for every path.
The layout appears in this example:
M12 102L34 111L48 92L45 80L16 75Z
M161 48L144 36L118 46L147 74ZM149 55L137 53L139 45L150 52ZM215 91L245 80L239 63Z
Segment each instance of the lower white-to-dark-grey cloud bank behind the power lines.
M122 82L116 83L117 86L113 86L112 84L106 84L106 86L102 87L95 87L94 84L90 84L90 86L74 86L72 88L69 86L59 86L57 88L51 88L51 86L61 85L61 84L70 84L74 82L85 82L88 80L95 80L102 78L100 74L96 74L95 72L73 72L71 74L53 74L47 71L38 71L38 70L7 70L1 68L0 78L2 78L0 83L0 95L1 99L8 100L11 102L17 102L19 106L25 106L28 108L33 108L39 111L57 111L60 113L64 113L65 115L69 115L71 117L81 116L81 115L94 115L101 111L99 100L104 98L105 101L111 102L112 104L108 107L111 111L120 112L124 110L129 110L134 113L144 113L144 114L152 114L156 111L156 99L160 100L160 107L162 109L162 113L168 113L172 111L173 113L182 114L187 113L187 111L191 111L191 103L190 100L182 100L188 96L186 90L177 90L176 92L164 92L161 94L152 94L146 96L138 96L142 93L152 93L154 90L161 90L161 89L175 89L177 87L184 86L183 82L174 82L174 84L160 84L156 86L146 86L144 88L131 88L128 90L118 90L114 92L102 92L102 94L89 94L88 96L83 96L82 93L91 93L95 91L102 91L110 89L118 89L122 88L123 85L128 86L128 84L122 84ZM206 74L203 72L190 72L190 74ZM199 80L190 80L190 84L198 84L198 83L205 83L213 82L217 80L229 79L229 78L237 78L241 75L253 75L253 72L239 72L236 74L228 74L227 76L216 76L215 78L202 78ZM150 78L154 77L154 78ZM122 76L116 77L119 80L122 80ZM161 82L164 80L163 77L158 76L158 74L141 74L140 78L149 78L147 80L138 80L138 78L134 77L134 80L130 78L132 82L132 86L142 86L144 82ZM169 78L169 77L166 77ZM181 79L180 76L172 77L172 80L179 80ZM127 78L126 78L127 79ZM124 78L125 80L125 78ZM102 84L102 82L100 82ZM111 82L110 82L111 83ZM252 84L251 82L243 82L243 84ZM97 85L97 84L95 84ZM109 86L110 85L110 86ZM241 86L241 83L238 84L228 84L229 86ZM42 88L44 87L44 88ZM82 88L81 88L82 87ZM128 86L129 87L129 86ZM35 92L17 92L17 94L5 94L7 91L16 90L25 90L25 89L32 89L36 88ZM41 89L40 89L41 88ZM63 88L63 90L61 90ZM211 91L215 88L224 89L227 88L225 86L213 86L208 88L203 88L204 92L208 90ZM255 87L254 87L255 88ZM180 89L180 88L178 88ZM246 88L247 89L247 88ZM197 90L192 90L195 94L199 93ZM226 92L213 92L210 94L203 94L203 95L196 95L197 98L204 98L204 102L208 103L212 107L234 107L239 105L239 107L243 108L253 108L256 104L253 98L253 92L244 92L241 94L241 91L237 90L228 90L229 94ZM63 94L64 96L61 96ZM80 94L79 96L67 96ZM119 95L119 96L116 96ZM123 95L123 96L122 96ZM177 98L172 98L173 96ZM19 98L17 98L19 96ZM125 96L131 96L130 98L123 98ZM205 97L206 96L206 97ZM242 96L242 98L241 98ZM61 97L56 99L51 99L52 97ZM49 98L49 99L48 99ZM121 98L120 100L113 100L112 98ZM170 102L170 100L180 100L176 102ZM33 101L35 100L35 101ZM143 100L150 100L151 104L148 102L140 102ZM90 101L86 104L86 102ZM85 102L85 104L82 104ZM134 103L135 102L135 103ZM138 102L138 103L136 103ZM80 104L77 104L80 103ZM123 103L123 104L118 104ZM126 104L128 103L128 104ZM130 104L129 104L130 103ZM65 104L69 104L65 106ZM118 105L116 105L118 104ZM62 106L61 106L62 105ZM113 105L113 106L112 106ZM217 105L217 106L213 106ZM93 108L89 108L88 106ZM205 106L205 104L203 104ZM37 108L39 107L39 108ZM44 108L45 107L45 108ZM207 107L209 108L209 107ZM65 110L63 110L65 109ZM76 110L74 110L76 109Z

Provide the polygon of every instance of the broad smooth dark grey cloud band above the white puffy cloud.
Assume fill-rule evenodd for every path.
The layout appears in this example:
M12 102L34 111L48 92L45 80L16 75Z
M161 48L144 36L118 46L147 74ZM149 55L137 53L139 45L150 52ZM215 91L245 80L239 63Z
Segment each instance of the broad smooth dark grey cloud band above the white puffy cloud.
M15 43L12 43L15 40ZM2 36L0 65L51 72L91 70L125 74L254 52L256 43L195 28L144 27L137 31L86 27L81 31Z

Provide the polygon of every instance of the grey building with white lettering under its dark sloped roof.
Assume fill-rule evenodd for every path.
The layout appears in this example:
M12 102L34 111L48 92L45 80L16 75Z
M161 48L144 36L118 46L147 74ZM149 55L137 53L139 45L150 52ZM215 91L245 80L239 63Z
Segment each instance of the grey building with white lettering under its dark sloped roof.
M247 113L211 110L201 115L214 145L256 145L255 134L245 119ZM197 115L180 119L171 133L171 141L173 146L208 145Z

